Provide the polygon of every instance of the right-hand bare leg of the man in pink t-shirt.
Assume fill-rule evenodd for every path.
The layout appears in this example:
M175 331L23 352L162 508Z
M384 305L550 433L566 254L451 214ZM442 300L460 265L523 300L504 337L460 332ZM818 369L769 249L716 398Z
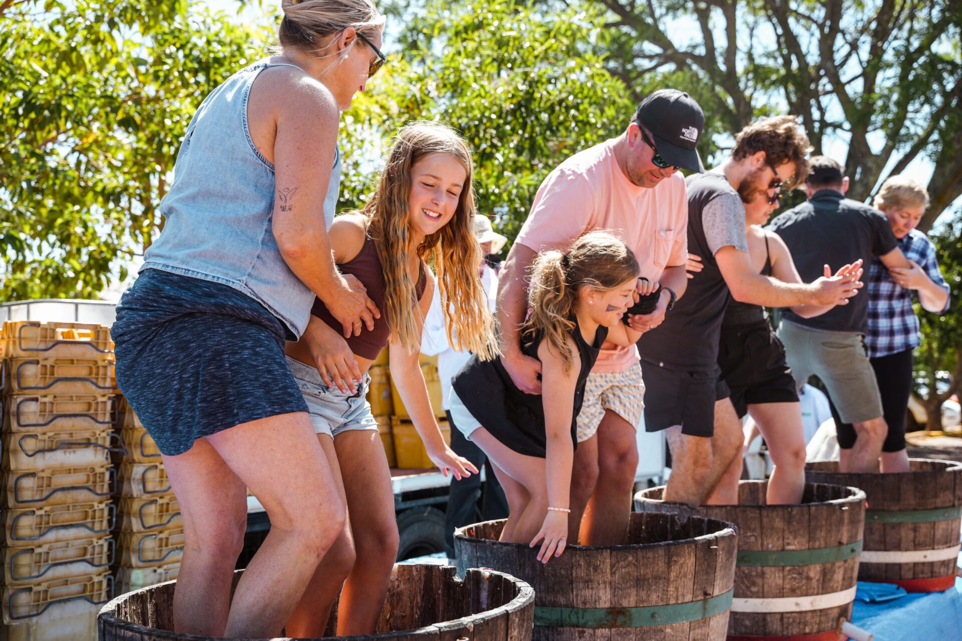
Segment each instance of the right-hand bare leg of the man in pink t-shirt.
M623 545L638 471L635 426L610 409L597 431L598 480L581 528L584 545ZM580 444L579 444L580 449Z

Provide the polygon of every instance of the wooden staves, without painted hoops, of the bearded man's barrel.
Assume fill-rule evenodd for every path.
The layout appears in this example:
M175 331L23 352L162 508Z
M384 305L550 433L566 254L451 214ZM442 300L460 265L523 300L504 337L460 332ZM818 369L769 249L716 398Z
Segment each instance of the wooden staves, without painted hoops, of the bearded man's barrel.
M663 487L636 495L640 509L691 512L734 523L739 551L809 550L855 543L862 538L864 498L854 488L808 483L800 505L765 505L767 481L741 481L740 505L687 505L661 503ZM645 501L639 500L644 496ZM835 502L835 503L826 503ZM775 509L772 509L776 507ZM739 566L735 572L735 597L772 599L798 595L830 594L855 585L858 558L797 566ZM848 619L851 603L802 612L731 612L728 633L776 636L815 634L835 629Z

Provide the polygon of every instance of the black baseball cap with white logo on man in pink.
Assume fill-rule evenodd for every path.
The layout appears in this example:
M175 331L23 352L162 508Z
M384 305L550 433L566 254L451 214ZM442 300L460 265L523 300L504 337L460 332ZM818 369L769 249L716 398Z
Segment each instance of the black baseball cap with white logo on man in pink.
M694 98L677 89L660 89L638 106L635 121L651 132L663 159L676 167L704 173L695 145L705 128L705 114Z

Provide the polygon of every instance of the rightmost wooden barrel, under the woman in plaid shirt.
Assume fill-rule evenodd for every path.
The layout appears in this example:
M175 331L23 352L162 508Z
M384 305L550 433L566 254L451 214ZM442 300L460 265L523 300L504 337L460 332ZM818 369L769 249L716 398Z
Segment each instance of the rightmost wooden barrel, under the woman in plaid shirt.
M911 472L846 474L837 461L805 466L808 481L865 491L865 545L858 579L898 583L909 592L955 585L962 520L962 463L909 459Z

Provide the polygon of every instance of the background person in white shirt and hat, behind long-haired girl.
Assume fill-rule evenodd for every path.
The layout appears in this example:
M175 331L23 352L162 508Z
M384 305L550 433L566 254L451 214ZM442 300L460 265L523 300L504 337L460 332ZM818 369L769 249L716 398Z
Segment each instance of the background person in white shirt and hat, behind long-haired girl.
M484 214L474 215L474 235L481 243L481 253L484 256L497 254L504 247L507 238L494 232L491 220ZM485 259L478 264L481 283L488 294L488 308L494 313L497 295L497 274ZM448 393L451 391L451 378L468 362L469 352L454 350L447 340L444 327L444 313L441 298L435 288L434 300L424 319L424 336L421 340L421 353L427 356L438 356L438 377L441 379L442 408L447 414L447 423L451 428L451 449L471 461L475 467L481 469L487 456L471 443L454 425L448 408ZM484 501L480 514L477 501L481 495L481 476L471 475L464 479L451 480L450 492L447 496L447 510L444 517L444 548L448 558L454 558L454 530L478 521L503 519L508 516L508 502L504 497L494 474L490 471L486 475L488 481L484 492Z

